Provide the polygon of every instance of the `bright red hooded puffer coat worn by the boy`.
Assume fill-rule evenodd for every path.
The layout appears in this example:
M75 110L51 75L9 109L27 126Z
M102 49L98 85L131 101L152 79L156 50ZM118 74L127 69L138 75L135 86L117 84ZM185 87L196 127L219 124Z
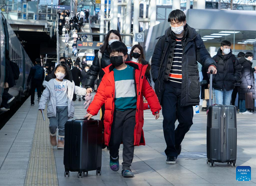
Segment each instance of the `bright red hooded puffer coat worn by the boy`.
M136 96L137 96L137 109L136 109L136 125L134 129L134 145L145 145L144 133L142 130L144 124L143 110L147 109L146 104L143 103L143 96L148 101L150 110L152 114L155 115L156 112L161 110L161 106L155 95L153 88L151 87L148 80L145 78L145 72L147 65L138 64L135 62L125 62L127 65L130 65L134 69L135 74L135 83L136 83ZM101 84L97 90L96 95L94 96L93 102L88 107L88 113L92 115L97 115L99 109L105 104L105 115L104 115L104 141L105 145L109 144L111 136L111 126L113 123L114 115L114 95L115 95L115 81L114 81L114 66L109 65L104 68L103 71L105 75L102 78ZM118 135L118 134L116 134Z

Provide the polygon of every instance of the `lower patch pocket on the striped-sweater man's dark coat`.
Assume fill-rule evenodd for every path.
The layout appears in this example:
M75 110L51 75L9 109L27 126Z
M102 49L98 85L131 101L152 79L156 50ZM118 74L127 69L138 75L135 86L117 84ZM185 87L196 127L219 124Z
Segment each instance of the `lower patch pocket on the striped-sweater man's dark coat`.
M199 98L199 95L200 95L199 77L188 77L188 95L191 98Z

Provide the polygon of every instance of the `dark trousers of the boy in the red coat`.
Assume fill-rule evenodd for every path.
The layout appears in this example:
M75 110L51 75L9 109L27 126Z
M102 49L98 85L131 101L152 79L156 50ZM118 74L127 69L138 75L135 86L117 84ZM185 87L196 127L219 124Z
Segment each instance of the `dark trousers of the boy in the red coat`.
M136 110L114 111L111 136L109 141L109 154L117 157L120 144L123 141L123 169L130 168L134 152L134 128Z

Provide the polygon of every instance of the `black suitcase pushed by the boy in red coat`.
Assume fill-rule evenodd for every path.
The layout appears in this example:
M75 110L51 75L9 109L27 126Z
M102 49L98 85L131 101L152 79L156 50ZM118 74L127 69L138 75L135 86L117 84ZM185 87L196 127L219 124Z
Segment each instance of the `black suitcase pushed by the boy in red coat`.
M97 119L72 119L65 124L64 166L78 172L78 178L88 171L101 175L102 122Z

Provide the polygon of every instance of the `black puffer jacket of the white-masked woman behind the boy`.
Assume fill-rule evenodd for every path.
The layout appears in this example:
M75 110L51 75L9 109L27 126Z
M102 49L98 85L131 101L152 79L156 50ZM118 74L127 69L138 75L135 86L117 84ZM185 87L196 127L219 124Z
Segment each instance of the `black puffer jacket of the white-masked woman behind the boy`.
M127 56L128 57L127 57L126 61L130 61L130 56L128 54L127 54ZM110 65L110 64L111 64L111 62L110 62L110 56L109 56L108 50L105 50L102 53L101 65L99 65L99 58L98 58L98 52L97 52L97 54L94 57L93 64L91 65L90 70L88 72L87 79L85 81L86 88L93 87L94 82L95 82L96 78L98 77L98 75L99 75L99 83L100 83L102 77L104 76L103 68L108 67L108 65Z

